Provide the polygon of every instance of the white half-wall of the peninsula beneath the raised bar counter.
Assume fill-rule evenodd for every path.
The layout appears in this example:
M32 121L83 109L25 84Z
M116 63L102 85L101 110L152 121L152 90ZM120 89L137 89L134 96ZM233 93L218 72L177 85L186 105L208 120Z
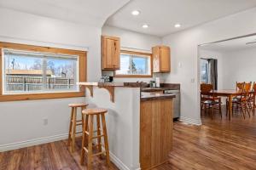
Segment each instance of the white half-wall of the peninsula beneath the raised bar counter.
M81 82L79 85L89 83ZM139 169L139 119L140 88L125 87L121 84L114 87L114 102L107 89L99 88L97 83L90 83L86 88L86 103L91 107L108 109L106 115L110 158L119 169Z

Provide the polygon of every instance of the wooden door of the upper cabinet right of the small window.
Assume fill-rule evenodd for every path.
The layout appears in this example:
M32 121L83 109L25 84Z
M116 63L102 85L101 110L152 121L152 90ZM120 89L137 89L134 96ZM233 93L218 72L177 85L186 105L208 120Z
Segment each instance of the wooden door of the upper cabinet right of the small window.
M160 48L160 71L168 72L171 71L170 63L170 48L161 47Z

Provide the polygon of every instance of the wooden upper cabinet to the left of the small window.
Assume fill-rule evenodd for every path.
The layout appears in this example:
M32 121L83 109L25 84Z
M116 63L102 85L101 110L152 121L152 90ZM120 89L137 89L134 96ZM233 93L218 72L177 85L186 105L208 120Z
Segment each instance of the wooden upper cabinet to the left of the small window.
M102 70L119 70L120 38L102 36Z

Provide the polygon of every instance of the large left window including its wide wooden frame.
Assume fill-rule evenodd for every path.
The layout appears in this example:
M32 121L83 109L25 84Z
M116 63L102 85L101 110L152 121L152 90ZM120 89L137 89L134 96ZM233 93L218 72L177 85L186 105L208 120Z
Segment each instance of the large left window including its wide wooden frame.
M0 101L84 96L86 53L0 42Z

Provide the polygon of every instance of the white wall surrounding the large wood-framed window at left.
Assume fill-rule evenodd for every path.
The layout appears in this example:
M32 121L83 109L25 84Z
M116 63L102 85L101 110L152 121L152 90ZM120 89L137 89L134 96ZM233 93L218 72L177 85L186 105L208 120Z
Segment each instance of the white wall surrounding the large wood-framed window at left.
M101 28L0 8L0 41L88 50L88 80L101 76ZM68 103L84 98L0 103L0 151L67 137ZM48 118L49 124L43 125ZM24 143L25 141L25 143ZM21 142L21 143L20 143Z

